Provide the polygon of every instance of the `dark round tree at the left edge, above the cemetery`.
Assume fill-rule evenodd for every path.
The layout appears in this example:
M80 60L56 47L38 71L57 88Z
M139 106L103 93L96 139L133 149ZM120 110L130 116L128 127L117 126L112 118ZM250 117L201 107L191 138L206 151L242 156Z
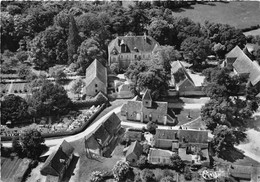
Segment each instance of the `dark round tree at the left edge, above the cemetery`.
M5 125L7 121L12 124L20 123L28 117L28 104L25 99L10 94L1 101L1 124Z

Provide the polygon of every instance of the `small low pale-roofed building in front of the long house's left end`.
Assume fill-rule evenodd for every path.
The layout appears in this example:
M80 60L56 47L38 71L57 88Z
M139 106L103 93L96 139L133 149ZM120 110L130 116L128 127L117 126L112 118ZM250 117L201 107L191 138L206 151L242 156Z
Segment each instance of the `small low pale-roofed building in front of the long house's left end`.
M169 150L150 148L147 159L151 164L171 164L171 157L173 155L174 152Z

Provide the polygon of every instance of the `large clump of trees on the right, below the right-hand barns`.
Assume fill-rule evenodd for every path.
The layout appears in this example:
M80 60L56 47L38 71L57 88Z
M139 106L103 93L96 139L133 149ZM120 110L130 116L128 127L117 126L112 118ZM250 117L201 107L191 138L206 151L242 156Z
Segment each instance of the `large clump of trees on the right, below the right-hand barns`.
M245 130L258 108L257 92L247 77L231 76L230 71L221 68L209 68L203 71L204 91L210 100L201 110L202 120L212 131L212 146L218 157L227 159L227 154L246 138ZM246 90L245 97L239 96Z

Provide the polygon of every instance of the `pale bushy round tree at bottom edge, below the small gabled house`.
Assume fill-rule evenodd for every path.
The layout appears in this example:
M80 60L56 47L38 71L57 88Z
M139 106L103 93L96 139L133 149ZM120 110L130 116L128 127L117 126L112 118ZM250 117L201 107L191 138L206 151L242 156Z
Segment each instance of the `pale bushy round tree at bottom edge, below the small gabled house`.
M123 181L129 171L130 166L128 162L125 161L117 161L116 165L112 169L116 181Z

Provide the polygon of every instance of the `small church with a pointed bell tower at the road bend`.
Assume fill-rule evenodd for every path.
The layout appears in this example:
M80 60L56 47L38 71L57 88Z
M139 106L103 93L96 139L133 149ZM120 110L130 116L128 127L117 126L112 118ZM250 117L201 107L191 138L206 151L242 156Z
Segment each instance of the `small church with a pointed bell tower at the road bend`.
M167 102L153 101L147 90L141 101L131 100L121 108L121 115L127 120L149 122L153 121L163 125L175 125L176 120L168 114Z

